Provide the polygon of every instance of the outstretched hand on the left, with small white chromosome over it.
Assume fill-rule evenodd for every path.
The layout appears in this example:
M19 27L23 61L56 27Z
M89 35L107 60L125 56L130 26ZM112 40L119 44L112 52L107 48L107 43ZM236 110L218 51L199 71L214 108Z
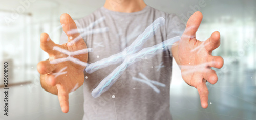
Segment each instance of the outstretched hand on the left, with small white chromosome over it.
M68 36L68 43L58 45L55 44L47 33L41 34L42 50L49 54L49 59L41 61L37 64L37 70L41 74L40 81L41 86L48 92L58 95L59 103L62 112L67 113L69 111L69 93L79 88L84 82L84 66L75 64L72 61L65 61L58 64L50 64L50 61L59 58L68 57L68 55L59 51L53 50L54 46L68 50L70 52L86 49L86 43L78 33L77 26L74 20L68 14L62 14L60 17L60 23L62 24L63 31ZM72 42L75 38L80 38L76 42ZM70 44L72 43L72 44ZM82 62L87 62L88 53L83 53L73 56ZM63 70L66 68L65 70ZM65 72L62 75L56 75L58 72Z

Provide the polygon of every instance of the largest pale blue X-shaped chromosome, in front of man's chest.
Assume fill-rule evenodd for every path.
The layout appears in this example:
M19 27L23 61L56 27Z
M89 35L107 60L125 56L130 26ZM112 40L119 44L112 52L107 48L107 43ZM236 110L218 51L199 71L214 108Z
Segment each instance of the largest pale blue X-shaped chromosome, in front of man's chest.
M99 97L103 92L108 91L108 89L117 81L117 79L123 74L125 69L132 65L133 63L140 61L142 58L150 58L157 53L160 53L164 50L170 48L173 43L180 40L180 37L174 37L168 40L165 40L157 45L152 47L144 48L140 50L143 44L155 35L158 26L164 25L164 18L160 17L156 19L150 26L148 26L145 31L140 34L137 39L124 51L114 54L109 58L104 58L101 61L97 61L95 63L90 64L86 67L87 73L92 73L98 69L107 67L112 64L117 64L124 60L124 62L118 66L111 74L109 74L106 78L104 78L99 85L92 91L93 97ZM137 53L136 53L137 52Z

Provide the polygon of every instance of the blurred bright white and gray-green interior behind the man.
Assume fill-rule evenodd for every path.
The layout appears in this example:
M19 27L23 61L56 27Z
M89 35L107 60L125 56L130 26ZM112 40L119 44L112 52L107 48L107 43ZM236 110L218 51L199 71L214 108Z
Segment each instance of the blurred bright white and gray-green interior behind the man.
M10 74L9 116L1 114L0 119L82 119L82 87L71 93L70 111L64 114L57 96L40 86L36 65L48 58L39 47L40 34L49 33L51 39L59 43L62 13L79 19L103 6L104 0L30 0L26 5L19 0L0 2L0 62L9 63ZM184 23L194 11L201 11L204 17L197 32L197 39L201 41L214 31L221 33L221 46L212 54L222 56L224 66L215 69L219 81L215 85L207 83L207 109L201 108L197 89L182 80L177 64L173 63L170 88L173 119L255 119L256 1L145 0L145 3L176 13ZM3 68L3 64L0 67ZM0 73L3 73L2 69ZM1 93L3 84L0 80ZM3 99L1 95L0 100Z

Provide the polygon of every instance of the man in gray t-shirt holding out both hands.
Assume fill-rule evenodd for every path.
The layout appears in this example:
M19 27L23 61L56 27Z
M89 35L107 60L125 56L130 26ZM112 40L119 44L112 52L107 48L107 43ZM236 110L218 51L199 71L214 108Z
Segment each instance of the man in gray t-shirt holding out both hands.
M51 63L55 59L70 57L64 53L65 50L74 52L87 47L93 48L93 52L80 53L72 57L78 59L80 63L89 64L103 58L109 59L111 55L120 53L130 46L148 25L160 17L165 19L165 25L155 31L155 35L144 43L143 48L152 47L175 36L181 36L181 40L171 49L132 64L108 91L97 98L91 95L93 89L121 63L115 63L91 74L85 72L86 67L78 62ZM174 57L181 68L182 78L188 85L198 89L201 106L207 108L206 81L211 84L217 82L217 74L211 67L221 68L223 59L211 55L212 50L220 45L219 32L212 33L205 42L196 39L196 31L201 21L202 14L195 12L189 18L182 34L184 25L175 14L158 11L147 6L143 0L106 0L104 7L77 20L77 24L68 14L62 14L60 23L66 33L61 36L62 45L51 41L48 34L41 34L40 47L49 54L49 60L41 61L37 65L37 70L41 74L41 86L46 91L58 95L61 109L67 113L69 93L84 83L83 119L171 119L169 84ZM86 28L86 31L101 28L108 31L81 36L77 27ZM60 52L61 50L53 49L54 46L65 50ZM57 76L56 74L61 71L65 72ZM146 82L135 79L144 79ZM157 86L150 81L164 85Z

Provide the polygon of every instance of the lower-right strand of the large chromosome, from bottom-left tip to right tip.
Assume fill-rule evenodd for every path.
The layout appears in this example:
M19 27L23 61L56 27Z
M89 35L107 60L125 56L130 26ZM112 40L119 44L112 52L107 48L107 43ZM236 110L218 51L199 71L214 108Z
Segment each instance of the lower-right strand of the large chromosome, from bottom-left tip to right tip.
M104 78L95 89L93 89L92 96L96 98L96 97L99 97L105 91L108 91L108 89L123 74L125 69L130 65L132 65L133 63L140 61L143 58L151 58L154 55L161 53L164 50L167 50L173 45L173 43L179 40L180 40L180 37L176 36L174 38L165 40L152 47L144 48L138 53L128 55L120 66L118 66L111 74L109 74L106 78Z

